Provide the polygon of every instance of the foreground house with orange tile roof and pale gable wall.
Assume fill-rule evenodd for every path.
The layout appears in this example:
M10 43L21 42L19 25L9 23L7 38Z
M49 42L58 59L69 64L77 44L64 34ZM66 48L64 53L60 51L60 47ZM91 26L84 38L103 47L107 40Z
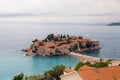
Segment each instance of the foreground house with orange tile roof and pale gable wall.
M93 68L83 66L78 71L66 69L61 80L120 80L120 66Z

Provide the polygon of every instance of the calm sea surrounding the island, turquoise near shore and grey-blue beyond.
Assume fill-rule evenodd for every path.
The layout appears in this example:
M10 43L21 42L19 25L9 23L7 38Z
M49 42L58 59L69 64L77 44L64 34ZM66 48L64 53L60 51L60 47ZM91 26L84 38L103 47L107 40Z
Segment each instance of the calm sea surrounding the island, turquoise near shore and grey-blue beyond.
M0 24L0 80L11 80L18 73L42 73L63 64L74 66L79 59L62 57L28 57L20 50L35 38L43 39L49 33L82 35L100 41L99 53L87 55L120 59L120 26L80 24Z

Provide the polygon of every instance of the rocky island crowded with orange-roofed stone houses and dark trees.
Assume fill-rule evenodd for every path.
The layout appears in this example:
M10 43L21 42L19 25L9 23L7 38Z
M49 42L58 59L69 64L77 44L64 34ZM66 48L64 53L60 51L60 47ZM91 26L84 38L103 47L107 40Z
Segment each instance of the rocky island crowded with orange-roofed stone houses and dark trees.
M99 50L99 41L82 36L49 34L45 39L35 39L29 48L23 49L27 56L62 56L71 52Z

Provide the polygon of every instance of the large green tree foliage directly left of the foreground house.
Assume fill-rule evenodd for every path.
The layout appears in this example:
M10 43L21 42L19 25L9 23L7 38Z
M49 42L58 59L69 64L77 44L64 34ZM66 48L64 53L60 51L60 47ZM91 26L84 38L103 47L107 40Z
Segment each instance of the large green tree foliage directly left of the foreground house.
M26 80L60 80L60 75L63 74L65 66L57 65L51 70L46 71L41 75L33 75L26 77Z

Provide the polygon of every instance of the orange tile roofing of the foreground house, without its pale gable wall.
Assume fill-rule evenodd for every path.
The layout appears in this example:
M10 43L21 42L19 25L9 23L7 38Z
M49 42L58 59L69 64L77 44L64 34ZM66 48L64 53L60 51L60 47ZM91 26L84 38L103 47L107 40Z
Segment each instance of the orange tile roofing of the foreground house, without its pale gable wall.
M69 73L72 70L65 70L65 72ZM83 80L120 80L120 66L92 68L85 65L76 72Z

